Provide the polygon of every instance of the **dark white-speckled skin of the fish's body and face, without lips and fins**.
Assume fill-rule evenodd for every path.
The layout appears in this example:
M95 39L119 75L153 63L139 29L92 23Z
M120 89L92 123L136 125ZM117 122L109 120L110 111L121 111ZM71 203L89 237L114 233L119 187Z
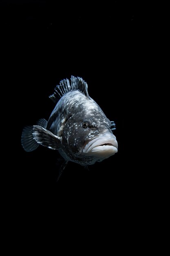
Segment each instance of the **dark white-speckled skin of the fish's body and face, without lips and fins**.
M82 122L86 121L87 128ZM110 132L111 123L102 109L90 97L78 90L67 92L55 106L46 129L54 135L62 136L60 154L66 161L77 162L83 166L93 164L99 159L86 156L84 145L99 134Z

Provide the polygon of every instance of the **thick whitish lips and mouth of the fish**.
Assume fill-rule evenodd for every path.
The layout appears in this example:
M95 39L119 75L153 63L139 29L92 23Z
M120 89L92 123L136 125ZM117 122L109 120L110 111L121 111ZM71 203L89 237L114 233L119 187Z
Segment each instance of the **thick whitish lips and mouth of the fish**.
M105 133L88 141L83 152L87 155L98 156L99 158L108 158L117 153L117 148L118 144L115 135Z

